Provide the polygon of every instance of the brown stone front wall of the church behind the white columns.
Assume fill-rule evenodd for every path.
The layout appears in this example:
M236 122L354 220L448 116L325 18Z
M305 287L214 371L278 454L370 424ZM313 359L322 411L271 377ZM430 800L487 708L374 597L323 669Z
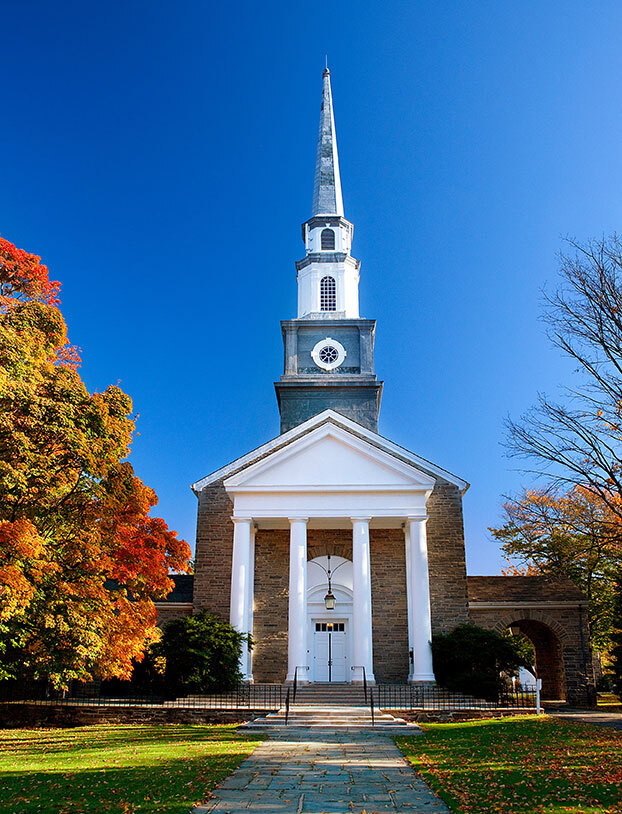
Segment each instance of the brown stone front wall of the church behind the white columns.
M433 630L467 621L462 501L457 487L439 481L429 501L428 556ZM229 618L232 504L222 481L199 494L194 611ZM408 677L406 559L402 529L370 531L372 630L376 679L403 683ZM352 559L348 529L309 529L307 557L331 554ZM255 537L253 675L283 681L287 671L289 530L259 529Z

